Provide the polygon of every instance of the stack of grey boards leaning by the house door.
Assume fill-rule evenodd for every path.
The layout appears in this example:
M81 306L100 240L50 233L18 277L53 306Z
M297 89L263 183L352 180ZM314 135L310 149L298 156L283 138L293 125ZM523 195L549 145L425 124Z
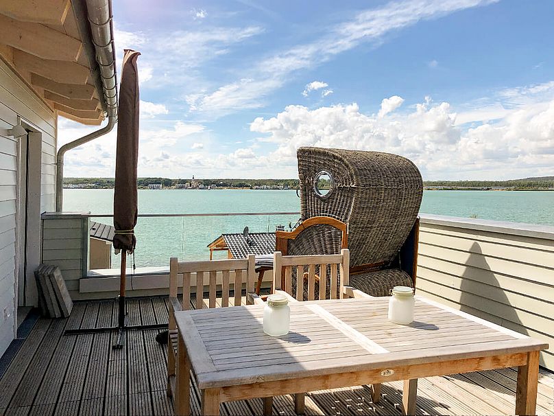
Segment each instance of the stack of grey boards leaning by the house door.
M73 301L65 286L58 266L41 264L35 271L38 288L38 305L43 316L67 318L73 309Z

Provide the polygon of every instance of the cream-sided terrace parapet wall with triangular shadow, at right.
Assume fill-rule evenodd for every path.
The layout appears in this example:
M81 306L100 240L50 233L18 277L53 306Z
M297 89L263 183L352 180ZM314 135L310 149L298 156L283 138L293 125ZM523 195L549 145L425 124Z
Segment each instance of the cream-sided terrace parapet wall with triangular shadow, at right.
M479 224L422 218L417 293L545 340L541 365L554 369L554 227L533 237L520 224Z

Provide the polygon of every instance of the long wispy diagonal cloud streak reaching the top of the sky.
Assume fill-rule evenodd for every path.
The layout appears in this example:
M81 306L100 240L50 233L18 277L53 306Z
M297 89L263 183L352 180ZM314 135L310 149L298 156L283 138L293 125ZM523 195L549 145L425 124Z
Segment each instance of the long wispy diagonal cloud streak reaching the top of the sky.
M473 8L499 0L405 0L392 1L380 8L359 12L353 19L331 27L326 34L312 43L296 45L276 54L259 60L258 65L247 71L248 83L231 82L219 86L218 91L226 91L225 102L217 101L216 106L210 106L210 96L215 93L206 92L206 97L199 98L204 102L197 109L210 112L221 117L245 108L262 106L261 98L275 89L280 88L292 73L300 69L309 69L321 65L338 54L348 51L362 43L377 45L390 32L395 32L422 20L437 19L459 10ZM244 74L243 74L244 78ZM253 89L252 86L265 86ZM248 95L249 99L243 99Z

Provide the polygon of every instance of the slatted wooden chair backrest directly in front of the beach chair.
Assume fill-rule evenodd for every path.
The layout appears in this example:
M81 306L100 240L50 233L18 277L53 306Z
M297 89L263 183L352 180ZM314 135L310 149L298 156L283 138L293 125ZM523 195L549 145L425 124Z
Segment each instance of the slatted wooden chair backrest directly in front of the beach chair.
M302 301L304 287L304 267L308 268L308 300L315 299L316 270L319 273L319 296L326 299L326 274L330 268L330 299L337 299L337 292L340 299L344 294L344 286L349 284L350 251L341 249L340 254L332 255L282 255L280 251L274 253L274 288L284 290L292 294L292 279L296 275L296 299ZM296 268L296 273L293 273ZM284 272L282 272L284 270ZM340 272L340 275L337 273ZM281 276L284 273L284 276ZM337 279L340 276L340 281ZM284 285L282 284L284 282ZM339 287L337 288L337 285Z

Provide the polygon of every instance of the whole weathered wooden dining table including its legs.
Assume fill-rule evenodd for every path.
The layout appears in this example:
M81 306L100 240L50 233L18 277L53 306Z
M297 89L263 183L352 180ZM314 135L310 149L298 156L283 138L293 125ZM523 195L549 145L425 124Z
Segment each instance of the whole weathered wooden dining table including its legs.
M190 413L191 376L203 415L221 402L398 380L414 414L418 378L518 367L515 413L535 414L541 340L422 297L410 325L388 321L387 298L289 306L280 337L263 332L263 305L176 312L176 413Z

